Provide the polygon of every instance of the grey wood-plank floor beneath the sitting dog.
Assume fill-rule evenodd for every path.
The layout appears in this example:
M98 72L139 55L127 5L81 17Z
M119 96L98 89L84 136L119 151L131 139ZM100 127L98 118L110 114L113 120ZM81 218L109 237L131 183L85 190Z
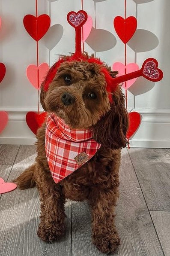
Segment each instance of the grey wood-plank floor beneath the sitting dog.
M35 158L35 146L0 146L0 177L12 181ZM170 256L170 149L123 149L115 256ZM91 243L85 202L66 203L66 236L46 244L36 230L36 188L0 195L0 256L101 256Z

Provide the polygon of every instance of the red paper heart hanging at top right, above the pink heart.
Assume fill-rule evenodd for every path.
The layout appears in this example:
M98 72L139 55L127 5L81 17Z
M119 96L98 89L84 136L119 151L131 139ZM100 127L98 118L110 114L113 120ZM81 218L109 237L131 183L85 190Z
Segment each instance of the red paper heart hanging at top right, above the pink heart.
M123 43L128 43L128 41L133 37L134 32L137 28L137 19L133 16L130 16L126 19L121 16L117 16L114 19L114 28L117 35L122 40Z

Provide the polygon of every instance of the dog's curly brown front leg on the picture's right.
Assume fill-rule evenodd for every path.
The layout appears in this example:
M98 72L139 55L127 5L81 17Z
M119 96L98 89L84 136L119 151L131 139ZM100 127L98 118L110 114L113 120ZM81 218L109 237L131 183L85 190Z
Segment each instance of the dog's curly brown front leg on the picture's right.
M93 191L90 200L92 208L92 240L103 253L112 253L120 244L119 235L114 226L114 210L117 195L114 189Z

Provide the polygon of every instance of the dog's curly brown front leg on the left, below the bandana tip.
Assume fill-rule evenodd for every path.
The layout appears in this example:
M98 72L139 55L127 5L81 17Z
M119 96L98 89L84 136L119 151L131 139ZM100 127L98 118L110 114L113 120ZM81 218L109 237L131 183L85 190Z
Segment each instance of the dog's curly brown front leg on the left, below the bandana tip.
M65 198L60 185L55 184L52 178L45 180L45 177L41 177L37 187L41 200L41 222L37 235L43 241L51 243L64 232Z

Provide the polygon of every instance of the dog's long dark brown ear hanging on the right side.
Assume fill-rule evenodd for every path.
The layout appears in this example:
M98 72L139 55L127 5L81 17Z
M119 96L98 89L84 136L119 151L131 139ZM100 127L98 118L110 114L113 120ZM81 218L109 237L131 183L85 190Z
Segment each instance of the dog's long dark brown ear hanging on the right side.
M101 117L93 128L93 138L110 149L119 149L128 144L128 113L125 109L125 96L118 86L113 94L113 103L109 112Z

